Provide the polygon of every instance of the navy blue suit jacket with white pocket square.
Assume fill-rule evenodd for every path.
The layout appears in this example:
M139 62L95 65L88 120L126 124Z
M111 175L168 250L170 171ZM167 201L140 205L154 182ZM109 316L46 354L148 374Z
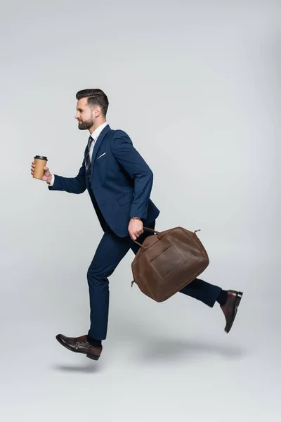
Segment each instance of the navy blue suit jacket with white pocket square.
M87 189L93 205L94 196L112 231L124 237L129 236L131 217L141 217L144 226L158 217L159 210L150 200L152 183L153 173L133 147L129 136L107 125L93 148L91 187L86 177L84 159L77 177L55 174L55 182L48 188L70 193L83 193Z

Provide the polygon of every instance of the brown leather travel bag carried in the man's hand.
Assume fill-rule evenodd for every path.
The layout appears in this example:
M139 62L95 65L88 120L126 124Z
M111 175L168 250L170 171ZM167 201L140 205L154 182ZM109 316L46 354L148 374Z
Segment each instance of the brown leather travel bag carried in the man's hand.
M199 276L209 265L209 257L196 232L174 227L156 231L143 244L134 241L141 248L131 263L133 283L141 291L156 300L164 302L178 290Z

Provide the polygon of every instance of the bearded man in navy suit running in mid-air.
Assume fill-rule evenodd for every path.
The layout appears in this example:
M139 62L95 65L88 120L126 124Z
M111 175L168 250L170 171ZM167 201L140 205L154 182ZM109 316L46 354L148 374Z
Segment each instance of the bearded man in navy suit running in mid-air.
M150 200L153 173L133 147L122 130L113 130L107 124L108 99L100 89L83 89L76 94L80 130L89 130L90 136L84 160L77 177L51 174L44 167L41 180L51 191L69 193L89 192L100 225L104 231L91 265L87 271L90 295L91 326L88 334L77 338L56 336L58 342L72 350L98 360L103 350L102 340L107 335L109 281L108 277L129 249L136 254L140 248L133 240L143 243L147 236L143 226L155 229L159 210ZM34 162L32 162L32 175ZM181 293L201 300L209 307L221 305L226 317L225 331L233 325L242 293L222 290L203 280L195 279Z

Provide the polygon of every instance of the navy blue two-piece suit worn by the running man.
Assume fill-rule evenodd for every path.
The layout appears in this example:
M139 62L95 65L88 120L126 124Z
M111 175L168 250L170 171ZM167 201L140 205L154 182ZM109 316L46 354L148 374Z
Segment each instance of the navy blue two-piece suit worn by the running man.
M143 225L155 228L159 210L150 200L153 173L148 164L133 147L129 136L122 130L112 130L107 125L95 143L91 158L91 183L86 177L83 160L77 177L55 174L51 191L83 193L89 191L93 207L103 228L101 239L87 271L89 283L92 338L104 340L107 334L109 309L108 277L129 249L136 254L138 246L128 231L131 217L141 217ZM143 243L153 234L144 231L138 237ZM203 280L195 279L181 293L214 306L221 288Z

